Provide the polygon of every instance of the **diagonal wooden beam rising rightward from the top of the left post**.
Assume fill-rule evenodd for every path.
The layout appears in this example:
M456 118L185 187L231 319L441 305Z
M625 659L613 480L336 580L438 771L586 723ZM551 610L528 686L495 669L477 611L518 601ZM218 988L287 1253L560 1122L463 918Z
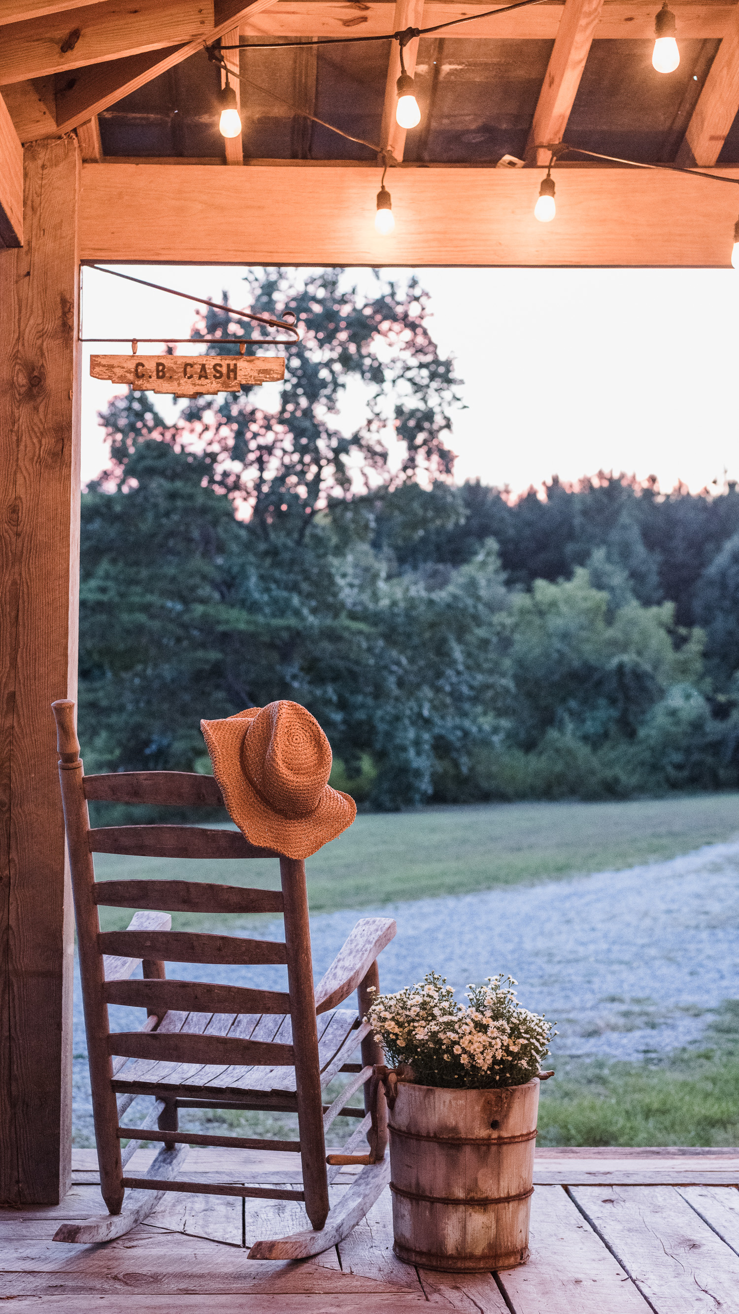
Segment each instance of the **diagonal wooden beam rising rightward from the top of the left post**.
M162 74L180 64L184 59L197 54L204 43L210 43L217 37L225 35L237 24L247 24L252 14L268 9L274 0L252 0L245 5L243 0L216 0L214 20L216 26L205 30L197 41L191 41L184 46L174 46L164 50L146 51L139 55L129 55L125 59L112 59L100 64L91 64L75 72L68 80L57 78L57 131L68 133L72 127L79 127L93 114L114 105L131 92L138 91L145 83L153 81ZM249 29L251 32L251 29ZM38 131L45 137L47 131ZM32 138L29 137L29 141Z

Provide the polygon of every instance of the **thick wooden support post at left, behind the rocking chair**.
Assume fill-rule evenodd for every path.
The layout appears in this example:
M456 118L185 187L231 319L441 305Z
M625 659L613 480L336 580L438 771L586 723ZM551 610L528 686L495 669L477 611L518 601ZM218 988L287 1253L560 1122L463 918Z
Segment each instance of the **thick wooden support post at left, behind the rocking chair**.
M103 166L97 166L103 167ZM51 702L76 696L75 138L25 151L0 252L0 1204L71 1177L72 905Z

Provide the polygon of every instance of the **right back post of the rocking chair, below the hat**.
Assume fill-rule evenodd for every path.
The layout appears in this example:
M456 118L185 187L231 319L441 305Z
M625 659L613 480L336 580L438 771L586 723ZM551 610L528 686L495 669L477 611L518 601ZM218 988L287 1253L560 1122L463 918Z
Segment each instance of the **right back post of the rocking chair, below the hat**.
M313 991L305 862L295 858L280 858L280 880L284 900L288 989L305 1212L313 1227L321 1229L329 1213L329 1179L326 1172L321 1074L318 1068L318 1028Z

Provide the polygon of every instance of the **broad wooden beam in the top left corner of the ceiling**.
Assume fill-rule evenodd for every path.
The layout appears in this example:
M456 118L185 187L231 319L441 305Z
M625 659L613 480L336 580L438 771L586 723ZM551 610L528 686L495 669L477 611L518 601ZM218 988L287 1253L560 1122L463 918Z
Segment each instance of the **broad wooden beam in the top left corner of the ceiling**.
M71 25L71 26L70 26ZM180 45L213 28L213 0L104 0L1 29L0 85Z

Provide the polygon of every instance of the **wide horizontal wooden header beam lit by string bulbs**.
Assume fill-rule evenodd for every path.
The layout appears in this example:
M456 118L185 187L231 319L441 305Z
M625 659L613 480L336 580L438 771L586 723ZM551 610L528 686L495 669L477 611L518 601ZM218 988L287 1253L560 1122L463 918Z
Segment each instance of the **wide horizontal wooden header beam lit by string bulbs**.
M717 170L739 181L739 168ZM80 258L176 264L728 265L739 188L621 168L391 170L396 230L375 233L379 170L85 164ZM153 205L151 198L156 197ZM738 273L739 279L739 273Z

